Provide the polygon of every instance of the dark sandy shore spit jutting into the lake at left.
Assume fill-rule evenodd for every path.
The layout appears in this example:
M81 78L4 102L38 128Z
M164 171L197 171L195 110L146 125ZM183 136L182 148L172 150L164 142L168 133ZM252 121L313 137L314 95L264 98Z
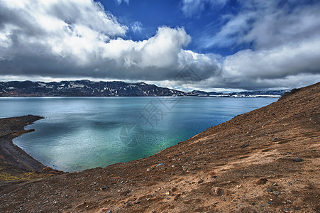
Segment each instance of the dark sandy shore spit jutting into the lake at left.
M28 153L13 144L13 138L23 133L34 131L25 130L24 127L33 124L41 116L19 116L0 119L0 172L18 175L19 173L43 171L45 165L32 158Z

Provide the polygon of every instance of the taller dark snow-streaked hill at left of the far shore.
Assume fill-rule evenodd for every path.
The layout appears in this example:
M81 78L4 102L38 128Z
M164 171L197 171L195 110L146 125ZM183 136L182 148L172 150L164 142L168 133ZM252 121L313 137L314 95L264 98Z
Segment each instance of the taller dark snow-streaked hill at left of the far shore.
M0 96L5 97L136 97L182 96L183 92L154 84L126 82L92 82L89 80L62 82L0 82Z

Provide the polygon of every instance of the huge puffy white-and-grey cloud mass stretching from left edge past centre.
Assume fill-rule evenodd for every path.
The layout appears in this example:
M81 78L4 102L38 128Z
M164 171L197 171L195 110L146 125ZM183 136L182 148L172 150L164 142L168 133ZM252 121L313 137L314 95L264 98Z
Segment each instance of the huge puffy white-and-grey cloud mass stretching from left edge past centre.
M211 55L183 49L184 28L126 40L128 27L94 1L4 1L0 10L1 75L168 80L186 63L203 77L216 72Z

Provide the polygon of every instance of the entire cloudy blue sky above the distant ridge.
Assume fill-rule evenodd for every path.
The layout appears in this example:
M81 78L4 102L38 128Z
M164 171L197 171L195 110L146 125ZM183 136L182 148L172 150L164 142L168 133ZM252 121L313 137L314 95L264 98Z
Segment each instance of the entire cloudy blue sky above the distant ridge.
M303 87L320 81L319 11L319 0L0 0L0 81ZM177 78L186 67L197 78Z

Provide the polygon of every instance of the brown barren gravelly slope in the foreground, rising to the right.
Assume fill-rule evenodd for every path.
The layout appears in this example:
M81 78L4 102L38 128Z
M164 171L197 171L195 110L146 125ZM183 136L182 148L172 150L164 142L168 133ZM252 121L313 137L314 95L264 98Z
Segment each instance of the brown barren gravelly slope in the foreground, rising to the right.
M294 89L148 158L1 182L0 212L320 212L319 96Z

